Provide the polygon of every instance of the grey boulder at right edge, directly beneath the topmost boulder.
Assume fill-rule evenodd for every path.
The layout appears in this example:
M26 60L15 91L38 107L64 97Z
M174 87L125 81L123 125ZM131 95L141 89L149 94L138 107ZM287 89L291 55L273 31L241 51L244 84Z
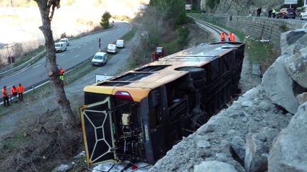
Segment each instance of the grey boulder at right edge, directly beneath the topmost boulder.
M295 55L287 57L285 67L294 81L303 88L307 88L307 47L303 47Z

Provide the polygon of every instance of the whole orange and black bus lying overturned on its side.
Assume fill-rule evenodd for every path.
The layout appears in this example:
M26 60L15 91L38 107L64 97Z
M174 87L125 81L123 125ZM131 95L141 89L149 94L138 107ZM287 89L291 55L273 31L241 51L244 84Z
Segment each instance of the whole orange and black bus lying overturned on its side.
M85 86L87 165L154 164L239 93L243 58L242 42L202 44Z

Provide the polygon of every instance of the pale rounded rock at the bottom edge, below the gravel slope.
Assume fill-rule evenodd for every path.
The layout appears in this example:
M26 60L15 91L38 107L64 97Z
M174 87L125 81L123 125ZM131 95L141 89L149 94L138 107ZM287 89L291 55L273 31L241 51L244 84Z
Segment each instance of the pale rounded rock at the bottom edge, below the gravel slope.
M230 164L221 161L204 161L194 167L194 172L237 172Z

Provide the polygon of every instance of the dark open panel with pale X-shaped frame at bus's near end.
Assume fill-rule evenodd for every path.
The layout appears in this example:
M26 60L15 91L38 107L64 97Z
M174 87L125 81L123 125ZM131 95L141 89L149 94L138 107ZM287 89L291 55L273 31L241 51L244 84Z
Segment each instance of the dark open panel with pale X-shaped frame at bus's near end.
M87 166L116 159L110 98L80 108Z

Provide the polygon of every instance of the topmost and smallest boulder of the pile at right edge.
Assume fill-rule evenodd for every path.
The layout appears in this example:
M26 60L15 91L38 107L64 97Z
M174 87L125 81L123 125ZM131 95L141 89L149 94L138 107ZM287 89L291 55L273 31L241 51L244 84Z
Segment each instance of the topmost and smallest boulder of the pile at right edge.
M307 46L307 30L297 29L281 34L281 55L295 55Z

